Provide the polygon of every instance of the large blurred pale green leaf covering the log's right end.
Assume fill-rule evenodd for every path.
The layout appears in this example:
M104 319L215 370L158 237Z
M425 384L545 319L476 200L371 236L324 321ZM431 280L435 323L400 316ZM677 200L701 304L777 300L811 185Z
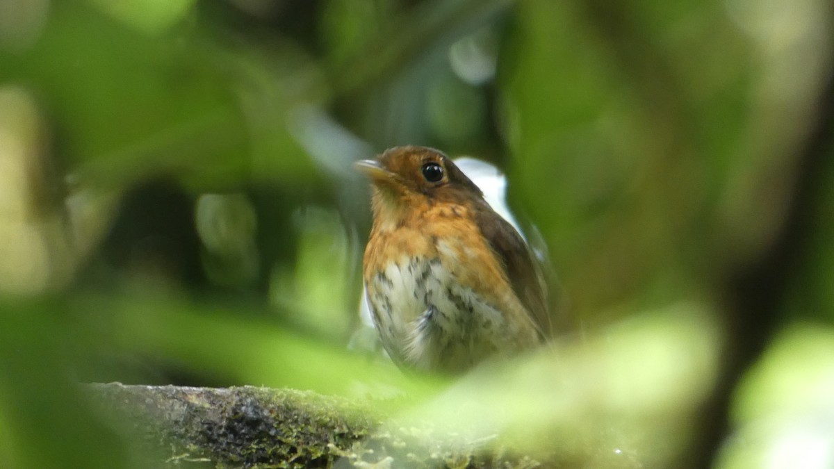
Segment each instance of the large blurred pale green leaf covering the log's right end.
M429 421L458 443L510 441L556 466L675 466L716 376L719 336L708 315L669 305L587 341L482 367L405 421Z

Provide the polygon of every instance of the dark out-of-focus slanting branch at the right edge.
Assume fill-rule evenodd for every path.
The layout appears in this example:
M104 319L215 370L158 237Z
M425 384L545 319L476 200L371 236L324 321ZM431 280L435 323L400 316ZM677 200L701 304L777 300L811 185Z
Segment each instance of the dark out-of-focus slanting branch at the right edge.
M747 265L740 265L726 280L724 299L726 361L715 391L702 415L703 431L692 446L693 467L715 462L731 430L730 410L733 392L747 369L765 350L778 325L786 294L806 255L807 240L814 228L819 196L831 178L831 153L834 152L834 75L829 75L817 106L816 122L796 161L796 173L786 215L769 249Z

